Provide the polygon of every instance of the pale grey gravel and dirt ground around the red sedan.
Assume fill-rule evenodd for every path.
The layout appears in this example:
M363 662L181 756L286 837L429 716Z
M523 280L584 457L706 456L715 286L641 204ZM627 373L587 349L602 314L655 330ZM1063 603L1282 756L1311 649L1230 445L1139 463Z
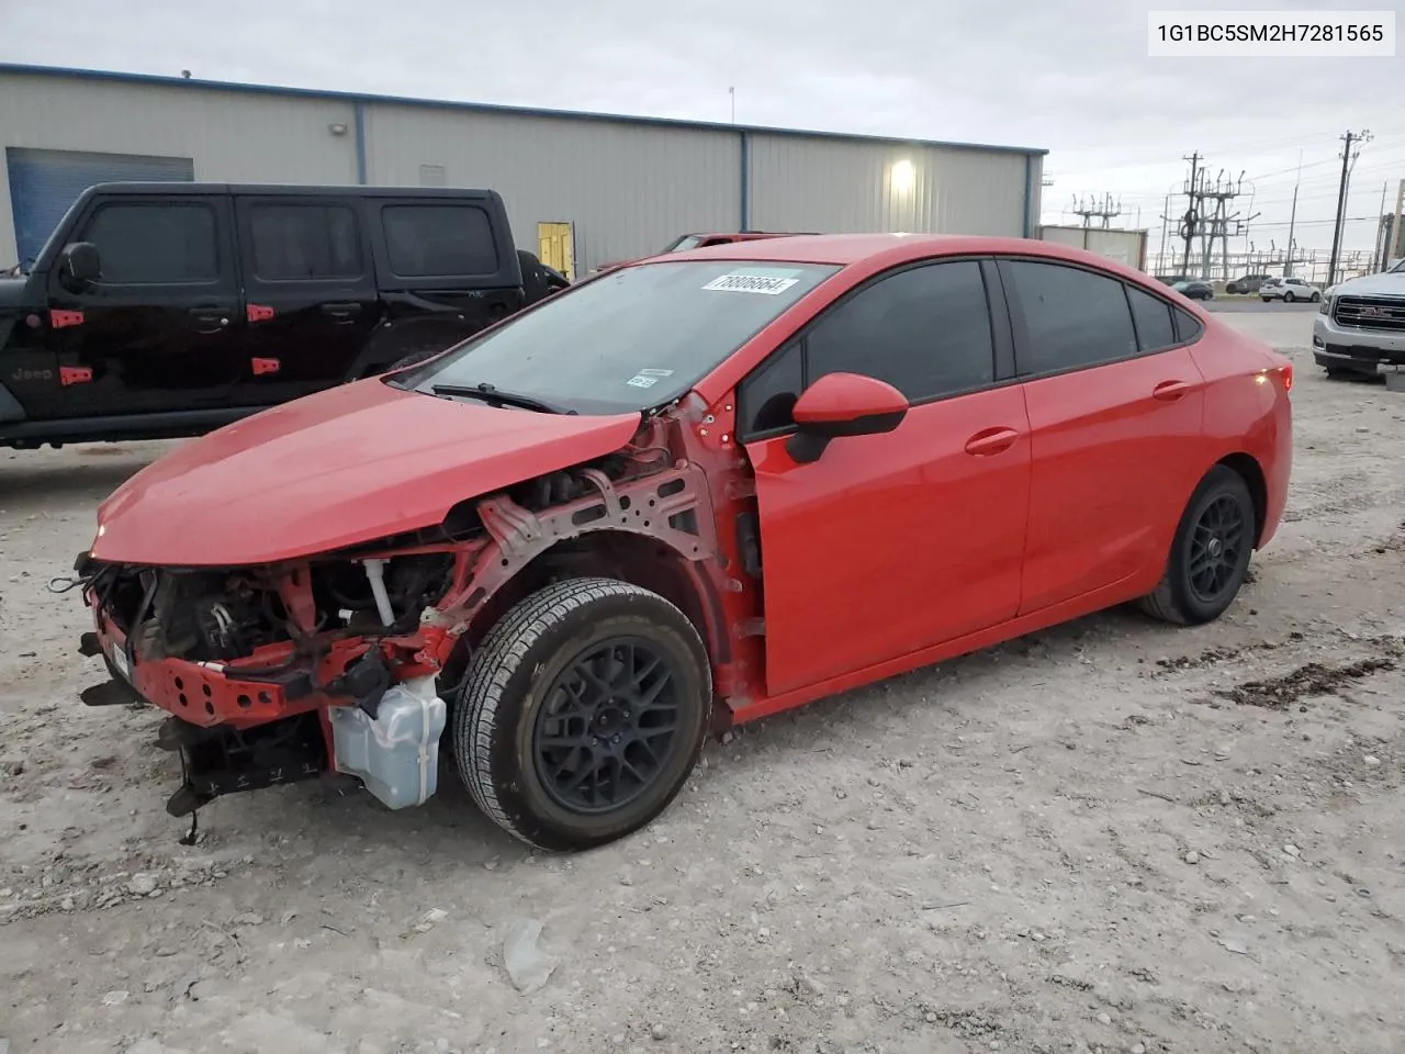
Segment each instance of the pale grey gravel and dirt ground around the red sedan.
M764 721L576 857L452 779L222 798L180 845L157 714L77 703L45 592L162 444L0 454L0 1048L1398 1051L1405 396L1326 381L1308 312L1227 320L1300 374L1221 623L1110 611Z

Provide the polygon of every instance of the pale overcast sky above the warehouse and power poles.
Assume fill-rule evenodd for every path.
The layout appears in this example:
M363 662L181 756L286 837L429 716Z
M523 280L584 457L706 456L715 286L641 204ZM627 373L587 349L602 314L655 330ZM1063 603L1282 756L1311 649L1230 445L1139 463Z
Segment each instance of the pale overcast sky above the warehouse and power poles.
M1227 7L1228 4L1220 4ZM1399 8L1238 0L1236 8ZM1198 150L1245 173L1259 249L1332 239L1339 136L1370 129L1346 246L1375 240L1405 177L1405 52L1394 59L1151 59L1173 0L0 0L0 60L211 80L1041 146L1044 219L1110 193L1152 229ZM1405 18L1399 18L1405 22ZM1401 27L1405 31L1405 25ZM1173 202L1175 207L1175 202ZM1180 202L1184 207L1184 202ZM1248 195L1241 212L1249 215ZM1064 219L1073 219L1064 214ZM1243 247L1243 243L1239 243ZM1325 256L1325 253L1322 253Z

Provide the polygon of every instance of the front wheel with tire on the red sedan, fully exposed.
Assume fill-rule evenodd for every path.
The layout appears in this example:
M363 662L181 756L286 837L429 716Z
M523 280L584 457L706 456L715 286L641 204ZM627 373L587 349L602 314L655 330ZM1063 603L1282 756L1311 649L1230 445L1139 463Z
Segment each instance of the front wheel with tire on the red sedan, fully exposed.
M656 673L629 679L629 690L656 696L634 714L617 694L592 701L594 686L618 676L625 646L635 670L656 661L653 670L670 673L662 687ZM658 700L666 708L651 710ZM454 757L473 802L514 838L551 852L592 849L645 826L677 797L702 750L711 701L707 648L677 607L628 582L568 579L509 610L473 653L454 705ZM562 710L569 717L554 717ZM658 722L670 710L667 735ZM542 742L551 738L579 745ZM622 801L604 801L621 787Z

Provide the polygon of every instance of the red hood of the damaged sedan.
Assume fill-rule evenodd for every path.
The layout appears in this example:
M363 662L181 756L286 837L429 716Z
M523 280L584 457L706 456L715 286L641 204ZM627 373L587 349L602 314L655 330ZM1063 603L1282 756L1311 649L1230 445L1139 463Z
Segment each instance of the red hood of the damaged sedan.
M97 559L181 566L308 557L431 527L457 502L625 445L639 415L493 409L332 388L194 440L98 507Z

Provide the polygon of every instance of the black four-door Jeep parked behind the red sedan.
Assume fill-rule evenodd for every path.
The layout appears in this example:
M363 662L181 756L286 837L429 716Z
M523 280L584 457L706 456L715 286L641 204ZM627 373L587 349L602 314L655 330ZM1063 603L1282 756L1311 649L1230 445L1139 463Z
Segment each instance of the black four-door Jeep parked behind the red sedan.
M0 447L201 434L562 284L489 190L91 187L0 278Z

